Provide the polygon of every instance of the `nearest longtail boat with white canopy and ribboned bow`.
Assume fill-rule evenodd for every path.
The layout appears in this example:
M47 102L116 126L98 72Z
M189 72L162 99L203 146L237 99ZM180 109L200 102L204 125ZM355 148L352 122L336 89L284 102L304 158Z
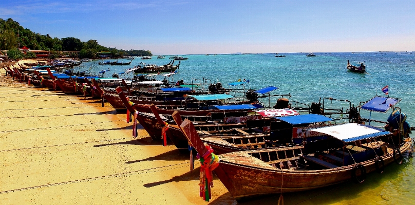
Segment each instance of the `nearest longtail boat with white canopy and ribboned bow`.
M362 108L387 110L389 105L378 102L384 100L391 107L398 102L391 98L377 100L368 101ZM397 130L393 133L348 123L307 129L308 134L318 139L307 141L304 148L270 148L219 156L201 141L190 120L185 119L180 127L203 159L200 196L209 201L213 187L210 173L214 170L232 196L242 202L246 198L269 194L282 196L282 193L317 189L350 180L362 183L367 173L382 173L384 167L393 162L401 164L402 153L413 152L413 145L406 115L398 107L393 109L388 118L388 126Z

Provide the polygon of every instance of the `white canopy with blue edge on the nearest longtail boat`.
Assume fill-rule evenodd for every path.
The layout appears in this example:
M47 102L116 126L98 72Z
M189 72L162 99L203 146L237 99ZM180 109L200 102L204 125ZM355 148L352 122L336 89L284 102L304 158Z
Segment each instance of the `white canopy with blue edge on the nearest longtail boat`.
M390 134L390 132L387 132L383 129L356 123L314 128L308 129L307 131L327 134L344 142L352 142L356 140Z

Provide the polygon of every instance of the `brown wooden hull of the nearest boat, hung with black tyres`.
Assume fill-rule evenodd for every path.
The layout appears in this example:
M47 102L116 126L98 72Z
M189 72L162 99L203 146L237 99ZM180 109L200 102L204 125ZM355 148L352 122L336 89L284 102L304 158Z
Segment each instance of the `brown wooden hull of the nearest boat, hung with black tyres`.
M401 148L401 153L410 148L409 143L405 143ZM258 164L252 163L248 158L254 158L249 152L237 152L220 155L220 164L214 173L229 190L236 200L252 198L261 195L280 194L281 184L282 193L300 192L311 189L327 187L329 185L342 183L351 180L353 165L341 166L327 170L310 171L290 171L280 170L269 166L267 168L259 159L253 160ZM232 160L228 160L232 158ZM394 162L393 155L382 156L385 166ZM258 161L259 160L259 161ZM241 163L235 163L240 161ZM252 164L244 164L251 162ZM366 173L376 171L374 160L361 163Z

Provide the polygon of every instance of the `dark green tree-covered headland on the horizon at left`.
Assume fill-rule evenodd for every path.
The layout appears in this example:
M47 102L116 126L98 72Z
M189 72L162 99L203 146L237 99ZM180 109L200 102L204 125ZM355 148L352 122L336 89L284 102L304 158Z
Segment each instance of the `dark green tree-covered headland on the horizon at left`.
M7 51L8 58L11 60L36 58L31 50L48 51L48 57L51 59L62 56L94 59L101 57L100 52L109 52L106 56L112 58L153 55L149 50L123 50L104 47L96 40L82 42L80 39L73 37L52 38L49 34L42 35L34 33L30 29L25 29L11 18L6 21L0 18L0 50L3 53Z

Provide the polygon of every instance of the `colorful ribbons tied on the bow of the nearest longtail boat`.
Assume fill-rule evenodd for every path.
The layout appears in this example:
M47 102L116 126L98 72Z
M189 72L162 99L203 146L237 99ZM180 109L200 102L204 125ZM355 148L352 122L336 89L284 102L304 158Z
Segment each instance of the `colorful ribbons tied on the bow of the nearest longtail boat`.
M200 159L200 197L203 200L209 201L212 198L211 187L213 187L213 173L212 171L219 165L219 157L213 154L213 149L208 144L204 143L204 146L208 149L208 152L203 156L197 154L197 158Z

